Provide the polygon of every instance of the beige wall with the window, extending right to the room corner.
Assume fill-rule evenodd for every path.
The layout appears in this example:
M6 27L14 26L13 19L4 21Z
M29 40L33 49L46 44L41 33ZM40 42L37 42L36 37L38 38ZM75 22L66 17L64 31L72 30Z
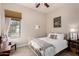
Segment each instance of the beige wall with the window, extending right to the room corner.
M3 9L9 9L22 13L21 20L21 37L11 39L19 46L26 45L34 37L45 36L46 34L46 17L45 14L26 8L17 4L3 4ZM35 25L40 25L40 29L35 30Z

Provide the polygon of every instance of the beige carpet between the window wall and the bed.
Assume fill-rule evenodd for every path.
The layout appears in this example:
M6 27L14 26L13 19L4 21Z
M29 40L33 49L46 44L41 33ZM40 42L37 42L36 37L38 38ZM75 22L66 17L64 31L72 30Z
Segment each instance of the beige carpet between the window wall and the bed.
M36 54L29 47L17 48L11 56L36 56Z

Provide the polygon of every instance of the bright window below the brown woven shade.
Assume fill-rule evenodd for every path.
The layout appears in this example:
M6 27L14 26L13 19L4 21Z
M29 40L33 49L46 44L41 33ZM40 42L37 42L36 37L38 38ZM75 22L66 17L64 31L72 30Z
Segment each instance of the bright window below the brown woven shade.
M20 37L20 21L16 21L16 19L12 18L9 25L8 36L10 38Z

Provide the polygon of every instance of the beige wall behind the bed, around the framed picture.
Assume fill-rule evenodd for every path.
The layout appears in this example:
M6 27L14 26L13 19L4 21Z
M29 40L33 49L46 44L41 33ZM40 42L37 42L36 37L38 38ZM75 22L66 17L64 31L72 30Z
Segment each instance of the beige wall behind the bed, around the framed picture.
M61 16L61 28L53 27L53 18ZM47 15L47 33L79 31L79 4L65 4Z

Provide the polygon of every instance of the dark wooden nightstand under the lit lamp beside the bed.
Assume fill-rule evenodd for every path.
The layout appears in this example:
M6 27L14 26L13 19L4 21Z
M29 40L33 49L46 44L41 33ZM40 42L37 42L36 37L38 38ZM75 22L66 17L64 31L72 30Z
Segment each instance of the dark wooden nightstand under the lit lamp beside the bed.
M68 41L68 51L79 55L79 40L67 40Z

